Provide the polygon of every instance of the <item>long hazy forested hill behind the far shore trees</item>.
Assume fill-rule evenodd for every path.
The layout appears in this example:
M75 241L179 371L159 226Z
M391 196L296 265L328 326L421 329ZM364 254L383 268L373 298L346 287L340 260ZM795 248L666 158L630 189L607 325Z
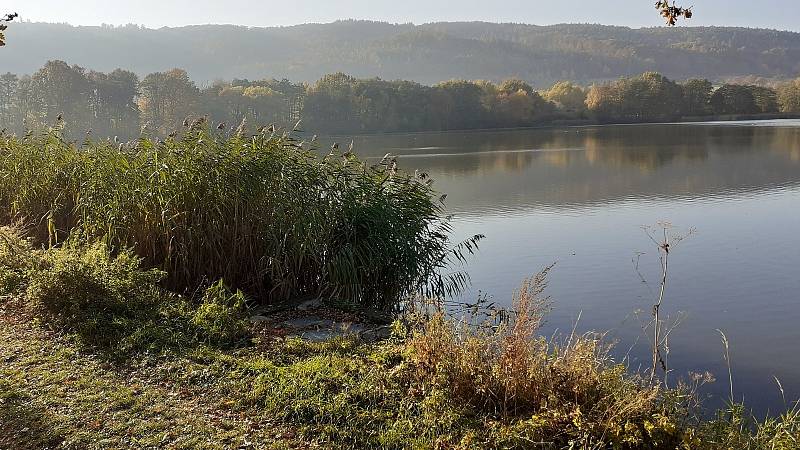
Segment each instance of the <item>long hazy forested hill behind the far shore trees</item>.
M17 23L8 34L0 72L19 74L33 73L51 59L100 71L124 67L139 75L182 67L198 82L314 81L337 71L427 84L518 77L535 86L651 70L679 80L800 74L800 33L747 28L342 21L154 30Z

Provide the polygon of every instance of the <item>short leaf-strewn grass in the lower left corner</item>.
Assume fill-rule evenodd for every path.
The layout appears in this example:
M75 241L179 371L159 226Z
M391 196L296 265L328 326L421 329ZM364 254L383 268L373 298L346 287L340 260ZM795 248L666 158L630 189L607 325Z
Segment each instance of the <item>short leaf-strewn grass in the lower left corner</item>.
M0 448L287 448L296 434L152 367L119 369L68 337L2 325Z

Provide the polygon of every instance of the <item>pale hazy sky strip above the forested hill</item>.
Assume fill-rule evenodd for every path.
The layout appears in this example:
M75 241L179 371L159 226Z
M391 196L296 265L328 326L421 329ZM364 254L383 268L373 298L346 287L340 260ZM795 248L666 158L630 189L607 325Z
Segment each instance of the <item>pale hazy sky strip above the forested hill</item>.
M17 11L30 21L76 25L136 23L148 27L205 23L272 26L337 19L414 23L483 20L541 25L591 22L640 27L661 24L654 4L654 0L0 0L0 12ZM679 4L694 5L695 18L688 22L691 25L800 31L797 0L681 0Z

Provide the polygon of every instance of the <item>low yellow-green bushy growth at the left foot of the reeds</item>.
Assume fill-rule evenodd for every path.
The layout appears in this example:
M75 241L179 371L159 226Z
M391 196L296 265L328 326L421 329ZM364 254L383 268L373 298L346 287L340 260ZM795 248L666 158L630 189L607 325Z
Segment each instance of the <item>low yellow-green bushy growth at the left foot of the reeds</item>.
M25 259L28 301L52 326L117 357L198 343L229 347L248 335L244 294L222 281L194 306L159 286L163 272L143 269L131 251L113 254L104 243L71 242ZM0 277L17 273L12 267L0 253Z

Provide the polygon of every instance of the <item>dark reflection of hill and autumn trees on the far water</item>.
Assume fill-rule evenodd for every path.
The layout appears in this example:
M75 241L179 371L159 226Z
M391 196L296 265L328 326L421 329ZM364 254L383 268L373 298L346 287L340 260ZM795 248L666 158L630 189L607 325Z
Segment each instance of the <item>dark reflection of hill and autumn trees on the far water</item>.
M401 155L456 213L574 207L627 198L735 195L797 182L794 127L616 126L361 137Z

